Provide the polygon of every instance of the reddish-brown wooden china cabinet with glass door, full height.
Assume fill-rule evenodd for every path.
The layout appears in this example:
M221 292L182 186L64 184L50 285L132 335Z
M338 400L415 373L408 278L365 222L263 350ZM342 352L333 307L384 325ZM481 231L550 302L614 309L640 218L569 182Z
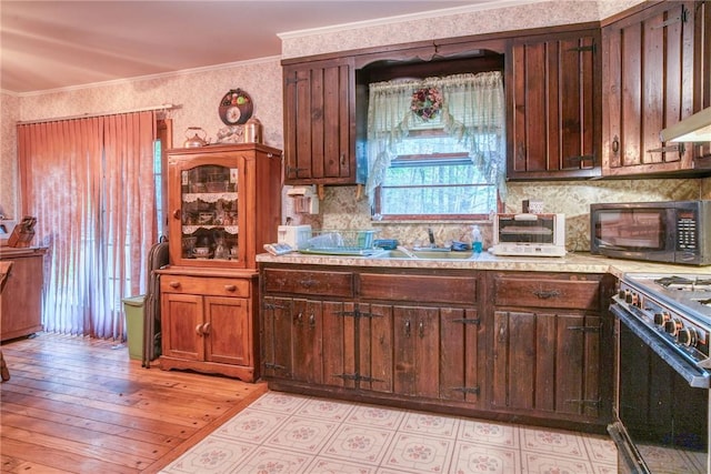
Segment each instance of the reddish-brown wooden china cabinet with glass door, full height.
M281 155L254 143L168 151L161 369L258 379L256 255L277 241Z

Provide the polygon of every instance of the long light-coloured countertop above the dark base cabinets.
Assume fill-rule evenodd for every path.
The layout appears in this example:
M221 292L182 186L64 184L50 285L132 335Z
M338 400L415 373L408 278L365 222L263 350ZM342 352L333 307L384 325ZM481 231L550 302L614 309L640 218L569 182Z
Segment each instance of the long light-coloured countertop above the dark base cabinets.
M379 259L372 256L311 255L288 253L257 255L260 263L287 263L301 265L342 265L397 269L471 269L525 272L611 273L618 278L624 273L704 274L711 275L711 266L671 265L632 260L609 259L590 253L569 253L565 256L497 256L483 252L479 258L462 260Z

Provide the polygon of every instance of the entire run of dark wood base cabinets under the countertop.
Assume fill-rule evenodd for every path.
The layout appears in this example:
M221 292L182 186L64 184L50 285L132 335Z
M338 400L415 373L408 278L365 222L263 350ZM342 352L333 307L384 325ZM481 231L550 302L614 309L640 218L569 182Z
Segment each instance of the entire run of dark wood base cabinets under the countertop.
M611 417L604 275L279 263L260 275L273 390L599 433Z

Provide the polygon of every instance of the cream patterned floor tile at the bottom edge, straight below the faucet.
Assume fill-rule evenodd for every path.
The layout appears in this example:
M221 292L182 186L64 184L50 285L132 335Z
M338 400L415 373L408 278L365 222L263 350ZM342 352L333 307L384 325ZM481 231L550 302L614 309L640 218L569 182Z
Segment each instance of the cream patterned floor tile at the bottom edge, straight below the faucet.
M448 472L453 447L453 440L399 433L382 465L420 473L444 473Z

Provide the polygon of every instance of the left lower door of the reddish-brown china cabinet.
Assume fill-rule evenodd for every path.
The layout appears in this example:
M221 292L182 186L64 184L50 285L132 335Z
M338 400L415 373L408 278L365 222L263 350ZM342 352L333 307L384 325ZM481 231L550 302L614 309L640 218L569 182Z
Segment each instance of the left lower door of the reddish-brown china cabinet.
M204 361L204 307L200 295L163 293L162 353L187 361Z

